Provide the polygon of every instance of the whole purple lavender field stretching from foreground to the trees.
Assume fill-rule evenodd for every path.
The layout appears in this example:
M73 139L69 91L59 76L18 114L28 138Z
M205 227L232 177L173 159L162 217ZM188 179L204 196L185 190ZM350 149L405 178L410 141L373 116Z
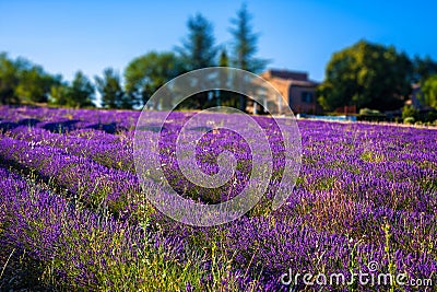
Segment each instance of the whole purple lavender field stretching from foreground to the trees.
M1 291L437 291L436 128L298 120L300 173L272 211L284 153L272 120L257 117L272 131L265 196L235 221L199 227L145 199L132 150L139 115L0 107ZM187 198L226 200L247 183L247 144L205 135L200 168L216 172L227 149L237 171L221 188L196 188L172 154L176 121L190 115L161 132L164 173ZM403 275L404 284L363 284L353 272ZM330 282L334 273L345 281Z

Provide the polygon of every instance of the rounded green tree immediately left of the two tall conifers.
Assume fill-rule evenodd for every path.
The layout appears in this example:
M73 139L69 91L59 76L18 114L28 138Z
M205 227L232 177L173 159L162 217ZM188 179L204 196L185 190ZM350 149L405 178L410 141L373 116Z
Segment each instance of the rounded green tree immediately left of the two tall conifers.
M184 70L175 54L151 51L133 59L126 68L126 92L137 106L145 105L157 89Z

